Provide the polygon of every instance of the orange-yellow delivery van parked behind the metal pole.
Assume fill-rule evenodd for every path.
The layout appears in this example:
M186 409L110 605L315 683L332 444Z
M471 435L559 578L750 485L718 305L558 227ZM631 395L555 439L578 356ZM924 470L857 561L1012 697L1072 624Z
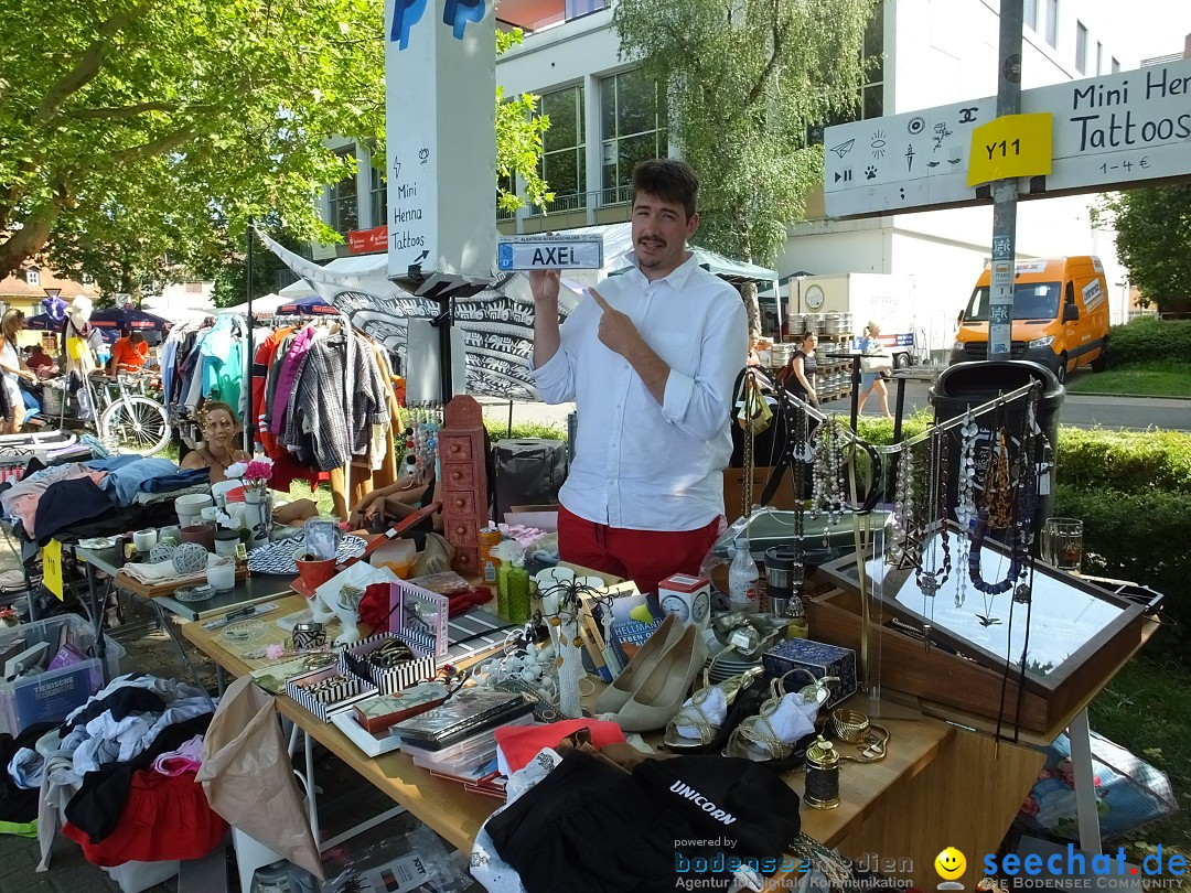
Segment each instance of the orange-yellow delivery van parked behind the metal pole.
M977 280L960 321L952 362L987 360L991 270ZM1018 261L1014 280L1010 358L1031 360L1059 376L1080 366L1104 369L1109 335L1108 283L1098 257Z

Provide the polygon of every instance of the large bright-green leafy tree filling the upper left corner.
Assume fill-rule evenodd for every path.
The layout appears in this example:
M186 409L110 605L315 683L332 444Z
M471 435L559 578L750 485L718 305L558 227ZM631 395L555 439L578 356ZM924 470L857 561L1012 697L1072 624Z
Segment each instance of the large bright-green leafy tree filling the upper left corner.
M166 251L242 244L266 213L338 238L312 192L354 173L330 136L384 146L382 23L382 0L15 0L0 30L0 277L50 245L66 269L143 282ZM498 144L541 202L532 105L501 105Z

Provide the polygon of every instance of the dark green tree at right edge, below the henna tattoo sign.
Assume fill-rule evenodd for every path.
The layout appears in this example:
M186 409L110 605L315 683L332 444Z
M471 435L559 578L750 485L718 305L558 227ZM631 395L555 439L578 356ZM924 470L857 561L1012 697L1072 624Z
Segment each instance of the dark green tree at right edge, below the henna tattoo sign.
M1191 310L1191 185L1114 193L1093 220L1116 229L1117 257L1143 307Z

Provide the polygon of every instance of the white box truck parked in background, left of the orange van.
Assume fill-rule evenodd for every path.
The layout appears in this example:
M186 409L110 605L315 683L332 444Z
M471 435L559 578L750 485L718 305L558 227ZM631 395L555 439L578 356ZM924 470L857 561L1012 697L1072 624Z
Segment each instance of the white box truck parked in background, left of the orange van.
M878 336L893 355L893 366L903 369L923 356L923 333L916 332L913 317L913 277L885 273L836 273L796 276L790 280L787 304L790 333L798 335L802 318L815 313L850 313L852 336L863 336L869 321L877 323ZM859 344L858 344L859 346Z

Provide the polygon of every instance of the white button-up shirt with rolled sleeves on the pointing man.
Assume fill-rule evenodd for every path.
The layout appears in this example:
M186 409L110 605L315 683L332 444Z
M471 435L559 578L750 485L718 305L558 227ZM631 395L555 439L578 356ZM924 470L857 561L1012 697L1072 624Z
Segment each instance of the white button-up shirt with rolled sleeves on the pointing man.
M559 500L590 522L630 530L696 530L723 514L732 386L748 355L744 302L693 256L650 282L634 260L599 293L626 313L671 368L659 405L641 376L599 341L603 311L585 298L532 371L542 399L575 401L575 457Z

